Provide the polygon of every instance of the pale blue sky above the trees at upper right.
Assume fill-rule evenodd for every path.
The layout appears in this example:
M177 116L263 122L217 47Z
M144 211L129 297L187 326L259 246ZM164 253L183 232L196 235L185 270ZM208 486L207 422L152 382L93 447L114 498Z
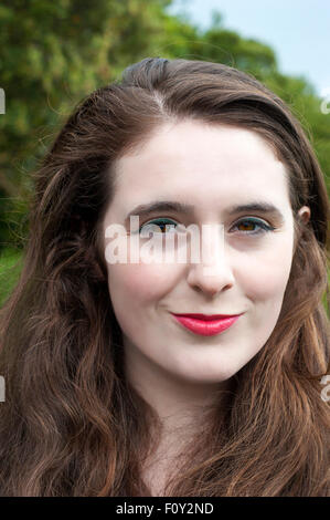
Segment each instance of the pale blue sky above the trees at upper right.
M201 29L212 10L223 27L272 46L284 74L304 76L320 96L330 94L329 0L173 0L171 14L187 13Z

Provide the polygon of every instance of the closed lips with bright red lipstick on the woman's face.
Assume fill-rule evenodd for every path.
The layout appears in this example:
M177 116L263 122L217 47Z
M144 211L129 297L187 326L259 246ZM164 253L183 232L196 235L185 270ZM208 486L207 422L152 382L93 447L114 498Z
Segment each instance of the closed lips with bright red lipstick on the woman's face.
M213 336L232 326L241 314L173 314L181 325L195 334Z

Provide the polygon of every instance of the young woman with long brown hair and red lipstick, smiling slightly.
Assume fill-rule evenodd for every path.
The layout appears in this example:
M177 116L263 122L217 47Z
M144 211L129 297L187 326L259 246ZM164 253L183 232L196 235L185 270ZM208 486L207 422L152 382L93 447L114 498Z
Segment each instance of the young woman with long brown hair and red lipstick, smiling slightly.
M223 64L145 59L34 180L1 310L1 496L329 496L329 201L285 103ZM207 254L164 259L191 225Z

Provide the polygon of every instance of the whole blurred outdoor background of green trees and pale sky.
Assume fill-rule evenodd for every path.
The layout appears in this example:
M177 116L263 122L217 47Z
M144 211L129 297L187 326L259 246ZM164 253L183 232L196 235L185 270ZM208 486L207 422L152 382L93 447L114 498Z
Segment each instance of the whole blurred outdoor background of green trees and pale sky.
M0 306L22 267L30 173L74 105L143 58L255 75L300 121L330 194L329 29L324 0L2 0Z

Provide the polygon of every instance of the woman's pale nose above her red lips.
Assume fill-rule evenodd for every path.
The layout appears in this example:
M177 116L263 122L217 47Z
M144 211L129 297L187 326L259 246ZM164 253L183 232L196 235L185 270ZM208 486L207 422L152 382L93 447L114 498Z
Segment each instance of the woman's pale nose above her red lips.
M202 254L198 263L189 264L187 281L192 288L198 288L204 293L214 295L231 289L234 285L235 278L230 258L225 251L224 240L220 237L214 242L214 233L213 236L209 235L209 238L204 233L203 243L206 254Z

